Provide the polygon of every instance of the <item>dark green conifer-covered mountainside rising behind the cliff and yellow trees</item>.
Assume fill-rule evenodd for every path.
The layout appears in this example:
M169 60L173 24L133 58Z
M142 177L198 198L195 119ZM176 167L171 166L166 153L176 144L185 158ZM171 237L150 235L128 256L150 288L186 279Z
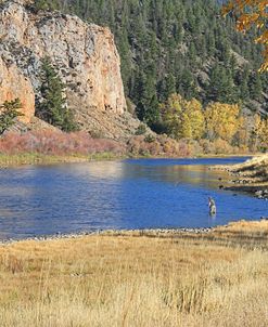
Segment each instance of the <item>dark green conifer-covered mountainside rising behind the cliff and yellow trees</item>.
M126 94L151 126L158 103L177 92L207 104L243 103L267 109L261 47L244 36L215 0L58 0L49 5L107 25L122 57ZM39 2L39 5L43 2ZM48 1L46 1L48 5Z

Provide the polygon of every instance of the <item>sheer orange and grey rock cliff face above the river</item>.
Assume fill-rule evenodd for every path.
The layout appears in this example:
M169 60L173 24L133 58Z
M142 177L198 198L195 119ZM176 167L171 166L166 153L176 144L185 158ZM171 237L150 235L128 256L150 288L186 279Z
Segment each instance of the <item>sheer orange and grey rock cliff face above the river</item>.
M20 0L4 1L0 6L0 103L20 97L25 121L34 116L35 100L40 96L44 56L66 86L68 107L84 129L119 138L113 130L124 116L126 100L110 29L60 12L37 13ZM95 125L98 113L106 117L103 129L102 122Z

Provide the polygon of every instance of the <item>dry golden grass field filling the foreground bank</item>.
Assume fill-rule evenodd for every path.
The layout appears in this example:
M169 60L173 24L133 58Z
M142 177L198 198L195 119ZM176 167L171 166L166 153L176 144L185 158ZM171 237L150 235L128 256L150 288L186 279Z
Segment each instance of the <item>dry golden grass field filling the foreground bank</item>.
M1 246L0 326L268 326L267 231L240 222Z

